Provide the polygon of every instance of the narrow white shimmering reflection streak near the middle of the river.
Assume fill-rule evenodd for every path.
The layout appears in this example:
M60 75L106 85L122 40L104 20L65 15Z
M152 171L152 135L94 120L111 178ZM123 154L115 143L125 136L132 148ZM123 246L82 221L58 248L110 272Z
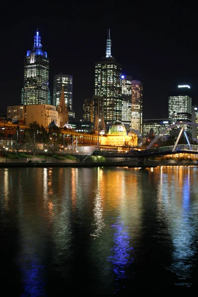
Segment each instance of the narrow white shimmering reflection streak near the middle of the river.
M104 224L104 218L103 218L103 207L102 207L102 198L100 194L100 180L102 179L102 170L98 167L98 175L97 175L97 189L95 190L95 198L94 198L94 223L93 225L96 227L96 230L94 231L91 236L99 237L100 233L102 232L105 224Z

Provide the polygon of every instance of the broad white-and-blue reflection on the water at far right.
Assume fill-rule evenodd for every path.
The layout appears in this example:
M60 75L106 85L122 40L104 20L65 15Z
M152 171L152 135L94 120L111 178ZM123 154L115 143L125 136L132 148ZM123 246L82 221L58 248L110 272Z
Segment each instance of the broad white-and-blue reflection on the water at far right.
M158 207L167 220L173 243L173 260L167 269L181 277L178 281L191 277L193 256L197 252L198 206L191 200L192 179L192 168L185 170L177 167L172 175L163 173L161 169L158 183ZM162 216L162 213L159 216ZM176 285L191 284L179 281Z

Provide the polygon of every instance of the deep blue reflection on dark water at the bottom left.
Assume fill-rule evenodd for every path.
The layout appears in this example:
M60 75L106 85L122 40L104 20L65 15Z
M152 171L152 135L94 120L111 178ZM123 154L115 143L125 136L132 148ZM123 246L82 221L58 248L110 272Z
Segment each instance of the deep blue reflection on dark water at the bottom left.
M32 263L27 263L20 269L24 283L24 292L21 297L46 296L42 276L43 269L44 266L39 265L36 258Z

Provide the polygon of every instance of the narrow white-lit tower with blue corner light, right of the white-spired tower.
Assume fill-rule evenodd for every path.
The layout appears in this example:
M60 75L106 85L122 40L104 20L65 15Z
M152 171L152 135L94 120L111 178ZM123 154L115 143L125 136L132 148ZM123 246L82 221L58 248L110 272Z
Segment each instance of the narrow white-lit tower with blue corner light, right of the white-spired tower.
M122 124L127 130L131 128L132 77L122 78Z

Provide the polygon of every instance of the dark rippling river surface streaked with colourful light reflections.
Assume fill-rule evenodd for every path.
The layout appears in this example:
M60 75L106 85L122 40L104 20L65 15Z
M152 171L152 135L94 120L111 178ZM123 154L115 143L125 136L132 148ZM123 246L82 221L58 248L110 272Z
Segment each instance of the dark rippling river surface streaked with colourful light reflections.
M129 294L149 286L152 264L167 287L196 285L197 167L0 174L2 269L18 275L20 296Z

